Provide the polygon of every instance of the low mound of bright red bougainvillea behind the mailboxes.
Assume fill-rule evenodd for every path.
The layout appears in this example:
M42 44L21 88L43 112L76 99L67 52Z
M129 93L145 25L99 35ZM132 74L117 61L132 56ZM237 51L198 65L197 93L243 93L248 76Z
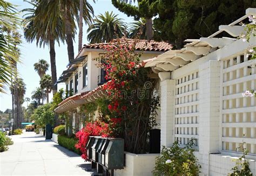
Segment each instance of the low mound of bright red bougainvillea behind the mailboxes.
M81 157L87 159L86 144L90 136L102 136L104 138L111 137L111 125L104 122L93 121L86 124L86 126L76 133L78 143L75 145L77 149L82 152Z

